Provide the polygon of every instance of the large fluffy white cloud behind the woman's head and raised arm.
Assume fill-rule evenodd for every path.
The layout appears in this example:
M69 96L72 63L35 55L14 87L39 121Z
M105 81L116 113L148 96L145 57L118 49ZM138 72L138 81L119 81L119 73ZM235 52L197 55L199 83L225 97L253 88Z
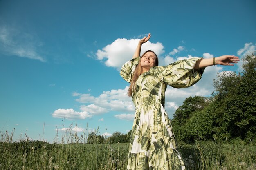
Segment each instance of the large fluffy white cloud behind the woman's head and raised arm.
M134 53L134 49L139 42L139 39L130 39L118 38L111 44L105 46L103 49L99 49L96 53L98 60L104 61L106 66L115 67L118 70L121 69L121 66L128 60L131 60ZM151 49L157 55L164 53L164 46L162 43L151 43L150 41L143 44L141 53Z

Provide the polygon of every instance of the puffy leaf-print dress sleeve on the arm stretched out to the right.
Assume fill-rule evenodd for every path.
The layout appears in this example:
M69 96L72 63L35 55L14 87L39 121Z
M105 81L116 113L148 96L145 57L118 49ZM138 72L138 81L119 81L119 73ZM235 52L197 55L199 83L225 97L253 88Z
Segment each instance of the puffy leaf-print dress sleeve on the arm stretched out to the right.
M202 58L190 58L180 60L168 66L164 66L161 79L174 88L187 88L198 82L204 72L204 68L194 69L195 63Z

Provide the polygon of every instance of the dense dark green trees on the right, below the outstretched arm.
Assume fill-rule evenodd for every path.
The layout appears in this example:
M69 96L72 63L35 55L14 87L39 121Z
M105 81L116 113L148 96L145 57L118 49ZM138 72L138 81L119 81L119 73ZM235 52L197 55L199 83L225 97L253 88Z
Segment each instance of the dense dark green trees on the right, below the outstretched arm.
M172 120L177 140L256 140L255 55L244 57L242 67L238 74L219 73L211 97L186 98Z

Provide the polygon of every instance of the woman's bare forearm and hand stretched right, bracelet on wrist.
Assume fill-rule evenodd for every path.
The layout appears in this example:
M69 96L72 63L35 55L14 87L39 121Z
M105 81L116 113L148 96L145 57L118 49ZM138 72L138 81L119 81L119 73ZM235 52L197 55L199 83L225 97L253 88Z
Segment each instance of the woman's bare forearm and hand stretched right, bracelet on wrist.
M202 60L198 60L195 64L194 69L200 69L208 66L213 66L216 64L224 65L224 66L234 66L231 63L237 63L239 58L234 55L222 55L220 57L214 58L203 58Z

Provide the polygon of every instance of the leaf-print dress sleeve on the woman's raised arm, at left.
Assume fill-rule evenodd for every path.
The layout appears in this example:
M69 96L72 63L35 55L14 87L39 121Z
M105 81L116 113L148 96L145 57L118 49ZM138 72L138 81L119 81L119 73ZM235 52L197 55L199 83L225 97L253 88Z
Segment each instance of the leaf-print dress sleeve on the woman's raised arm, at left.
M124 80L126 80L129 83L132 81L132 75L136 66L139 64L139 60L140 57L133 58L132 60L126 62L121 68L121 77L123 77Z

